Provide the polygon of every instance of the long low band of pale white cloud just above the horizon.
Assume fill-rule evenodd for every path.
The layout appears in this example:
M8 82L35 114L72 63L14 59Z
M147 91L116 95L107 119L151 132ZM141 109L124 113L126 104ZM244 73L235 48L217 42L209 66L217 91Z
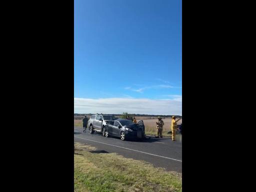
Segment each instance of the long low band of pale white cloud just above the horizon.
M182 115L182 102L147 98L74 98L74 113L97 112Z

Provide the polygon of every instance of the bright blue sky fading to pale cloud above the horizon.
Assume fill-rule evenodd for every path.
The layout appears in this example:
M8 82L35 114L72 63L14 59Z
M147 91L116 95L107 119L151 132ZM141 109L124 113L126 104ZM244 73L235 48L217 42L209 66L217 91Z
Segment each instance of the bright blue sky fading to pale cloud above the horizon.
M163 113L181 114L181 3L74 0L74 99L80 98L74 112L107 113L104 101L118 104L121 98L123 103L149 100L154 107L166 102L172 108ZM99 99L101 107L88 106ZM176 102L179 109L168 105ZM129 103L119 110L137 113Z

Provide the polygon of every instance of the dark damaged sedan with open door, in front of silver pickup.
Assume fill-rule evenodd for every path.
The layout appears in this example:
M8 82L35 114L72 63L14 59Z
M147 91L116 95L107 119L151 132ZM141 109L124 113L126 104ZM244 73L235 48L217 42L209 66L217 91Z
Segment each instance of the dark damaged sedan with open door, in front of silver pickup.
M127 138L144 138L144 130L145 126L142 120L138 121L138 123L133 123L131 120L118 118L109 120L102 134L106 137L117 136L121 140L125 140Z

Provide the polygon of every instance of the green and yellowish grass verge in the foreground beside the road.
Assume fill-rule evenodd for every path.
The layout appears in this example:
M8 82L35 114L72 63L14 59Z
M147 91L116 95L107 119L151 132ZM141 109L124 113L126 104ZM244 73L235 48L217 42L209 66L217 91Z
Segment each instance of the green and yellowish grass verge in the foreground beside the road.
M75 143L74 191L182 191L181 174Z

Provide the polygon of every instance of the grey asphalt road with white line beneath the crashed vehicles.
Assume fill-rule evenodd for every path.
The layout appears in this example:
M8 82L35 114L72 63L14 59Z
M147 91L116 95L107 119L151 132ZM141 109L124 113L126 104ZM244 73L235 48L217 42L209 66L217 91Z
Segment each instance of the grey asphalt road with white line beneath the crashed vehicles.
M148 136L144 140L122 141L118 137L104 137L99 132L90 134L82 128L74 127L74 142L95 146L97 150L116 152L127 158L144 160L155 167L166 170L182 171L182 143L170 138Z

